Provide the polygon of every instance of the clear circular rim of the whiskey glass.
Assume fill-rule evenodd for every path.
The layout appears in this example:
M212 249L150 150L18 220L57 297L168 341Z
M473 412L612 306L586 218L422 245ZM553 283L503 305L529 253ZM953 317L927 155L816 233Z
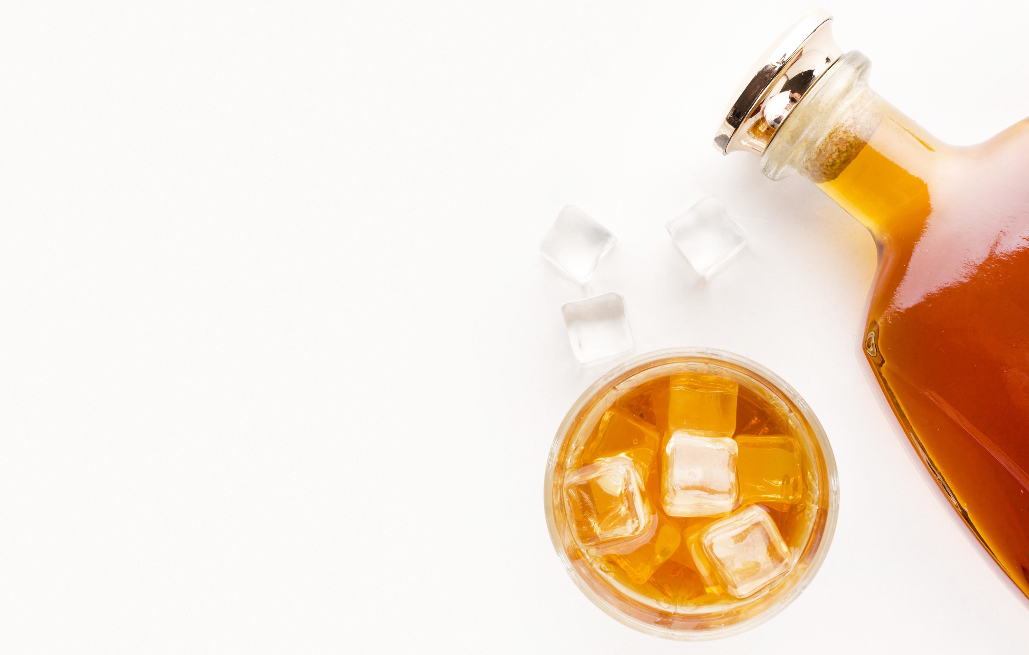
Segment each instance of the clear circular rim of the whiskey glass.
M815 442L818 444L819 450L821 451L821 459L825 467L825 489L827 497L825 506L818 507L815 518L816 524L818 522L822 522L822 528L820 532L812 529L811 535L808 537L808 542L802 550L801 558L804 558L805 554L807 554L809 550L814 549L806 561L805 570L800 577L792 582L789 588L782 593L781 597L775 598L772 604L764 610L758 610L753 616L747 617L739 622L735 622L730 625L722 625L720 627L703 629L676 629L674 627L666 627L630 616L619 608L613 606L606 598L601 596L593 587L591 587L587 581L582 579L579 572L572 565L571 560L568 557L568 553L562 543L561 533L555 517L554 472L561 455L562 446L564 445L566 439L574 432L572 429L573 426L580 422L580 419L584 419L582 415L583 410L599 401L602 393L605 393L617 386L619 378L622 378L622 381L629 380L635 375L643 373L644 371L654 368L654 366L666 363L670 359L679 359L683 363L698 361L702 364L713 364L715 366L719 363L735 365L736 367L744 369L747 374L754 378L755 382L767 383L765 386L769 388L769 390L784 397L784 399L780 400L788 401L788 403L795 408L796 412L803 416L804 421L810 428L811 436L814 437ZM725 350L718 350L715 348L666 348L663 350L653 350L644 353L614 367L590 385L590 387L583 391L581 395L579 395L578 400L575 401L571 409L569 409L568 413L565 415L564 420L561 422L561 426L558 428L557 436L555 437L554 443L551 447L549 456L546 461L546 474L543 481L543 506L546 515L546 526L551 533L551 542L554 545L554 549L558 553L558 557L561 559L568 576L575 583L575 586L578 587L579 590L588 598L590 598L594 605L619 623L647 634L678 641L704 641L739 634L740 632L756 627L782 612L787 606L789 606L790 602L793 601L794 598L801 595L821 567L822 561L824 561L825 555L828 553L829 546L832 542L832 535L836 531L837 516L840 509L840 484L837 473L836 458L832 454L832 447L829 444L828 437L825 435L822 424L819 422L814 410L811 409L801 394L797 393L793 387L787 384L785 380L756 361ZM784 581L789 580L791 575L792 572L790 575L787 575L787 578L784 579Z

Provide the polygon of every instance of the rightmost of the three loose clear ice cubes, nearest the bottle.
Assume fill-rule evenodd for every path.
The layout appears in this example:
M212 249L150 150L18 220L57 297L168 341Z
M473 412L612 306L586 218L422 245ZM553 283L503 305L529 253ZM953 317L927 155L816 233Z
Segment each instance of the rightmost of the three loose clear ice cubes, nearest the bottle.
M747 235L714 196L704 198L665 227L689 266L708 276L743 248Z

